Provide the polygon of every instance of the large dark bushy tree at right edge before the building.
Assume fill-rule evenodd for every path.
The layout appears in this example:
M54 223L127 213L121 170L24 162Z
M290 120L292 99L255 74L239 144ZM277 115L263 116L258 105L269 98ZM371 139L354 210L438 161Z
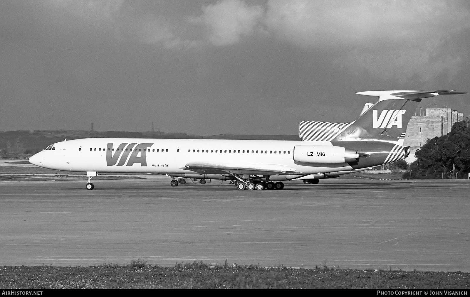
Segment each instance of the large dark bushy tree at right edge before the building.
M416 161L404 178L457 179L470 170L470 121L452 125L447 135L429 139L416 150ZM411 175L411 177L410 177Z

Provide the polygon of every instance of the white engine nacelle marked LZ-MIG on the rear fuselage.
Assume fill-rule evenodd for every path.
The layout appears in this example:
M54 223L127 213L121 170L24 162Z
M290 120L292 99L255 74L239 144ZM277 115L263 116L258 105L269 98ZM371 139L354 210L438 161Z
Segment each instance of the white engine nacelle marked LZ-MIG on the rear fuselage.
M357 162L357 150L327 145L296 145L294 161L303 163L338 164Z

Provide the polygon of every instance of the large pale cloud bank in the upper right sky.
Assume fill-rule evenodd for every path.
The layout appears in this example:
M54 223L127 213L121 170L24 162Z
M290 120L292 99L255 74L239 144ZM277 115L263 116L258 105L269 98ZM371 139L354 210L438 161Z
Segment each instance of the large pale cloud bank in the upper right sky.
M270 0L265 24L276 39L328 52L353 73L406 81L455 75L468 49L455 42L470 29L459 2Z

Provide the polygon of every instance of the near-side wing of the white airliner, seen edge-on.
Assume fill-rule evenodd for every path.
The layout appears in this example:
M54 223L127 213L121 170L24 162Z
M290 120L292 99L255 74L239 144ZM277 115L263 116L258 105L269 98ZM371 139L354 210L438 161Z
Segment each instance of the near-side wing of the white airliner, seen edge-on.
M254 175L279 175L299 174L295 168L277 164L211 164L204 162L192 162L185 168L204 173L232 173L232 174L254 174Z

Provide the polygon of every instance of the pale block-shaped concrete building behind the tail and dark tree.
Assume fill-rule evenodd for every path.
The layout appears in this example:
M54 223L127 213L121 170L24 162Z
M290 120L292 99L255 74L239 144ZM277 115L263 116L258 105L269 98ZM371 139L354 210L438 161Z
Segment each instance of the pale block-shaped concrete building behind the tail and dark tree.
M428 139L446 135L452 125L463 120L463 113L450 108L426 108L420 109L411 117L404 146L421 147ZM407 157L407 163L415 161L415 150Z

